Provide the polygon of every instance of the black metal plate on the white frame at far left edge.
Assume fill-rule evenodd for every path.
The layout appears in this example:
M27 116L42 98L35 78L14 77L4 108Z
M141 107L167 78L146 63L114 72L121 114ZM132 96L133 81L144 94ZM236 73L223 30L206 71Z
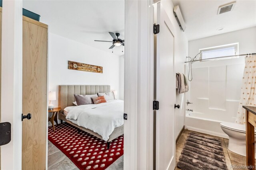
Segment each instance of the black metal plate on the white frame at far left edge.
M0 123L0 146L6 145L11 141L11 123Z

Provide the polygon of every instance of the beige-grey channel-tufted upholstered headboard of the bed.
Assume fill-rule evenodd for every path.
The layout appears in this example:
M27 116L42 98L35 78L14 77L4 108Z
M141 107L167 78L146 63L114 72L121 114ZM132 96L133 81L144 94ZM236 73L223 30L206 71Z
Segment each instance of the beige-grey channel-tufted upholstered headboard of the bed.
M59 86L59 107L60 113L68 106L74 106L74 94L96 94L110 92L109 85L60 85Z

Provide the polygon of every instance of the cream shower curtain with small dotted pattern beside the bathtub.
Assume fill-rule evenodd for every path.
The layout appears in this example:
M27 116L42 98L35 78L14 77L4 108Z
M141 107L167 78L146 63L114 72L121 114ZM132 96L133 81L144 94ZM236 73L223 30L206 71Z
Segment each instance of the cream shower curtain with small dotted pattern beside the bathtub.
M245 109L242 106L256 106L256 56L245 57L244 76L236 123L245 124Z

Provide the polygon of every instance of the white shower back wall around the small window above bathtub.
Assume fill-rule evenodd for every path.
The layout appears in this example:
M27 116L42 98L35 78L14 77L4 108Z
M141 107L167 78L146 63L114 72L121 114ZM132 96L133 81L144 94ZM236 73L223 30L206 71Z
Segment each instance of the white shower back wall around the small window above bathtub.
M188 53L193 57L199 49L230 43L239 43L239 54L255 53L256 27L189 41ZM193 63L193 80L186 96L193 104L188 108L209 119L234 122L243 70L244 57Z

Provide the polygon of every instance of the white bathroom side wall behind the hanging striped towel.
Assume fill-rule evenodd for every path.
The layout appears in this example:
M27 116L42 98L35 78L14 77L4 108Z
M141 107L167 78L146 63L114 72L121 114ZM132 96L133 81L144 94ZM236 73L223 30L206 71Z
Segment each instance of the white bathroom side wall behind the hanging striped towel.
M162 0L162 5L170 18L172 25L175 28L175 37L174 37L174 66L175 72L184 73L184 61L186 60L186 56L188 56L188 39L183 31L181 31L178 22L173 14L172 1L170 0ZM161 26L161 25L160 25ZM184 126L184 113L185 113L185 105L184 105L184 94L176 93L176 104L179 104L180 109L175 109L175 129L174 135L178 137L180 130Z

